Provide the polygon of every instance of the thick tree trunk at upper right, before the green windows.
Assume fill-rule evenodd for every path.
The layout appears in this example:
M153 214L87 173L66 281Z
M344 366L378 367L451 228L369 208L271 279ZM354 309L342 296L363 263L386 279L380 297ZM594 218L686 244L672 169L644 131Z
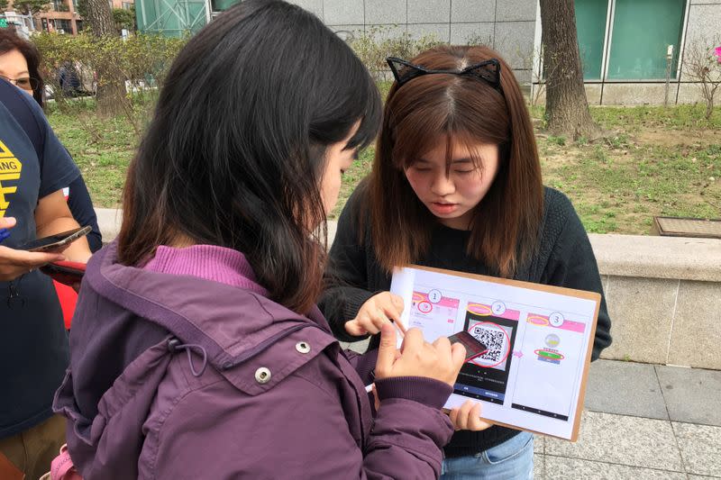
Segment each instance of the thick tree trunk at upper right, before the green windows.
M593 137L598 126L583 87L573 0L540 0L547 128L577 139Z

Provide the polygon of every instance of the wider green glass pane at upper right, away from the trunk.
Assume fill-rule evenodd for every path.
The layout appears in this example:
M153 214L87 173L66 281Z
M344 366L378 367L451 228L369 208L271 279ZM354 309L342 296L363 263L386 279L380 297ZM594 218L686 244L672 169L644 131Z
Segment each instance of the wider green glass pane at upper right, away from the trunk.
M673 45L676 77L686 0L616 0L607 77L655 80L666 77L666 51Z

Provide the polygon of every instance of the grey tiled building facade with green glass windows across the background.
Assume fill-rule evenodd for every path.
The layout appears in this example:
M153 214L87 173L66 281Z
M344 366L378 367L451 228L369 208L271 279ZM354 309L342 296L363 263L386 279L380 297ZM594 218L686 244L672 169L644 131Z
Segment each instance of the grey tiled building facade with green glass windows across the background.
M146 32L196 32L237 1L138 0L138 26ZM485 43L507 59L534 95L543 95L538 0L289 1L346 38L379 32L379 40L432 34L440 41ZM589 104L700 99L684 59L696 46L707 42L710 48L715 36L721 38L721 0L575 0L575 5Z

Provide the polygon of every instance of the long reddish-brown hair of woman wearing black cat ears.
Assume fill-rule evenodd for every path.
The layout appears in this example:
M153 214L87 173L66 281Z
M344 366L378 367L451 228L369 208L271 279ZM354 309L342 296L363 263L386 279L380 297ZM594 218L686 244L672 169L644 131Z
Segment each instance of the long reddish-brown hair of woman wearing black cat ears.
M473 211L467 253L495 275L508 277L536 249L543 216L541 164L511 68L497 52L482 46L443 45L411 62L460 70L488 59L500 62L500 91L478 77L453 74L425 75L390 88L373 169L362 186L370 202L373 249L388 272L422 258L436 223L408 183L406 169L442 144L450 165L454 141L471 153L479 143L499 147L497 176ZM473 160L482 172L483 158Z

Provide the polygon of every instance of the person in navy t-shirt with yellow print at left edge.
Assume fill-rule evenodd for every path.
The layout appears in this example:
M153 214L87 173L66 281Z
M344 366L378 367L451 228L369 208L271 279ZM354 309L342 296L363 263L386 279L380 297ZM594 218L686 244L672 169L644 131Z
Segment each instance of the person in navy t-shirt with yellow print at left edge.
M42 265L87 262L87 240L62 254L18 249L78 228L62 188L78 168L30 95L0 79L0 463L38 478L65 442L65 421L51 403L68 367L68 337L58 296Z

